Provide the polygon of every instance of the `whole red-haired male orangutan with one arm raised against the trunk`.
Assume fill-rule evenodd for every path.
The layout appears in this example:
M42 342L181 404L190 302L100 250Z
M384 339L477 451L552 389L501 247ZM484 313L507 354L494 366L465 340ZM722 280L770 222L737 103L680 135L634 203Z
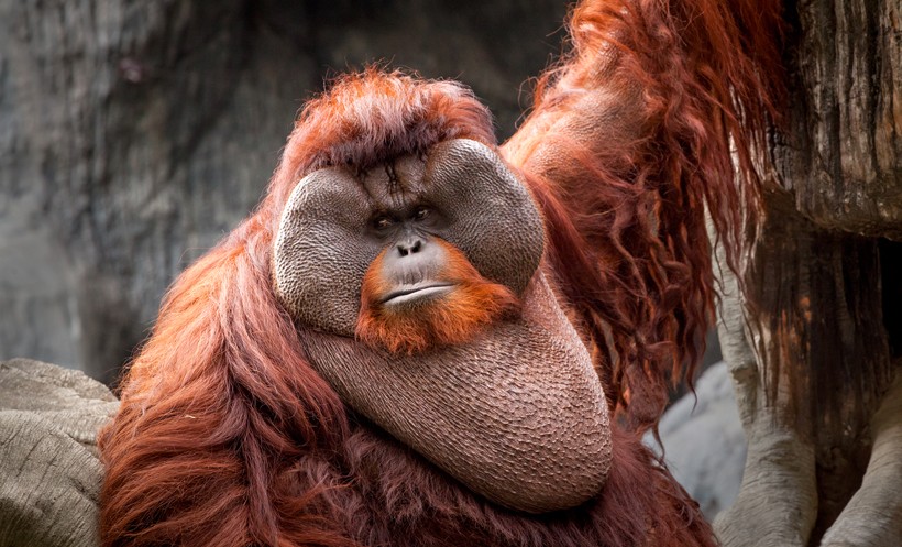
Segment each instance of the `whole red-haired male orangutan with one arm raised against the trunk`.
M705 207L734 259L755 210L779 9L736 3L583 2L502 146L450 81L309 102L123 380L103 545L714 545L640 436L712 317Z

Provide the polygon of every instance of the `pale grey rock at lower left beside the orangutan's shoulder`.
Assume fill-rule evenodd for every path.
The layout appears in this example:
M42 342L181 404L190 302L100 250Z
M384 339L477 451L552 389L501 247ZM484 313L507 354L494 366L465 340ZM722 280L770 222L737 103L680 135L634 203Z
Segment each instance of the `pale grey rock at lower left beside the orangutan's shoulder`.
M79 371L0 362L0 546L97 545L97 431L118 406Z

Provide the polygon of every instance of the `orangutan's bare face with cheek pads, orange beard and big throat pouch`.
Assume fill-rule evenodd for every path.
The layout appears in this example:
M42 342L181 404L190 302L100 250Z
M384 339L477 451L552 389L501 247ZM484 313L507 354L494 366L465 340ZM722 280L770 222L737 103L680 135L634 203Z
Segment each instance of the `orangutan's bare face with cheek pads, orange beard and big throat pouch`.
M490 147L452 140L301 179L275 287L346 404L473 491L554 511L598 493L610 441L542 251L521 182Z

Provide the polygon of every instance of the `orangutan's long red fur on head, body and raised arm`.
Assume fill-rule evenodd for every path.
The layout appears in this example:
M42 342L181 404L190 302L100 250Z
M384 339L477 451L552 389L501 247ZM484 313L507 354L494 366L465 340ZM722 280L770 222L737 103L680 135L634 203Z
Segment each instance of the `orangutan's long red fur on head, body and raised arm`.
M565 108L556 81L613 28L647 89L645 147L630 156L629 176L610 175L593 147L575 142L572 157L594 167L570 188L583 198L524 174L546 217L544 267L587 342L604 350L606 390L635 423L658 418L667 370L692 368L711 317L703 200L738 249L729 227L743 196L729 184L727 135L752 180L748 139L763 130L771 90L758 70L773 61L768 25L777 20L756 6L730 13L714 0L587 2L572 21L578 53L538 96L537 114ZM453 138L495 145L488 112L451 83L367 70L305 107L260 209L176 281L121 384L119 414L100 436L102 545L715 544L697 504L632 428L615 424L597 499L525 516L475 496L359 419L310 368L302 327L271 282L273 238L294 185L327 165L365 169ZM613 212L600 215L605 207Z

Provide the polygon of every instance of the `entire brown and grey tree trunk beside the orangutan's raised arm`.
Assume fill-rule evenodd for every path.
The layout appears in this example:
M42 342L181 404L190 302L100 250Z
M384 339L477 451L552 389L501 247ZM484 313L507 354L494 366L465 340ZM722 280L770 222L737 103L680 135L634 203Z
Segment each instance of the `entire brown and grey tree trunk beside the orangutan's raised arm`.
M900 15L895 0L788 7L789 130L743 283L718 253L749 440L716 523L727 547L902 537Z

